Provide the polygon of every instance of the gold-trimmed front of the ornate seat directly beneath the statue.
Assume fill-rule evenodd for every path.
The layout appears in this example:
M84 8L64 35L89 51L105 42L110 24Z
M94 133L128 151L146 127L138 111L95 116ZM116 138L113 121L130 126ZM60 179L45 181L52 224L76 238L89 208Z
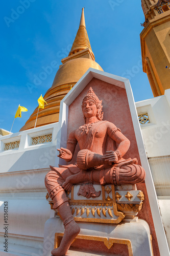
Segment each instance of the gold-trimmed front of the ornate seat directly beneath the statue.
M71 188L69 205L75 221L120 223L125 215L117 211L114 185L101 186L102 199L74 199L74 187ZM109 194L109 195L108 195Z

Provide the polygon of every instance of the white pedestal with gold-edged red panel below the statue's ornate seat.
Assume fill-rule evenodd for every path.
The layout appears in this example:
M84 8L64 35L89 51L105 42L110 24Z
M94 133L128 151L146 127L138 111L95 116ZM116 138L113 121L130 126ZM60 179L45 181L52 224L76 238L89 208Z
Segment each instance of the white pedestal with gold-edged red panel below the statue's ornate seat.
M149 225L147 222L139 220L137 217L133 220L125 219L121 224L93 223L93 225L91 225L90 223L79 222L79 225L81 231L76 240L86 240L86 253L89 253L88 241L92 240L103 242L103 248L106 248L106 251L116 243L120 245L126 244L129 255L153 255ZM51 218L46 221L43 256L51 256L51 250L54 248L54 244L57 243L57 239L62 237L63 232L64 226L59 217ZM91 253L96 253L94 252L94 248L91 249L93 250ZM79 255L75 254L78 253L76 249L74 251L74 255ZM68 252L68 255L72 255L71 253L72 251ZM99 255L102 255L102 253ZM105 253L104 255L109 255L109 253Z

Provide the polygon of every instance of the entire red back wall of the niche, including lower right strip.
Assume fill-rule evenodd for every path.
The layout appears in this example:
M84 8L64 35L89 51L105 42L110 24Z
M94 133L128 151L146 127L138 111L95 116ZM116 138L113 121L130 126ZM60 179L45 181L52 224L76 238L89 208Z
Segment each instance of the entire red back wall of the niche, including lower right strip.
M130 148L124 158L137 158L138 164L141 164L125 88L121 88L102 80L92 78L92 80L87 84L79 96L69 105L67 137L71 131L78 129L79 126L84 124L81 105L82 99L86 95L89 87L93 89L94 93L100 100L102 99L104 112L103 120L114 123L131 142ZM76 162L78 151L79 145L76 147L74 158L72 159L71 163ZM145 200L143 202L143 207L139 212L139 217L147 221L147 223L150 225L154 255L159 256L159 247L156 239L156 233L145 183L139 183L137 185L137 189L142 190L143 194L145 195Z

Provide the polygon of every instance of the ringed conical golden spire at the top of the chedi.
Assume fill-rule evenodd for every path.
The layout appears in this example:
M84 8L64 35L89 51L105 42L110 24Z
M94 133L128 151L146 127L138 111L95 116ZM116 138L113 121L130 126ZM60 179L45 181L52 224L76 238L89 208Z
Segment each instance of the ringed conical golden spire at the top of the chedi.
M87 48L90 49L91 54L94 58L94 54L91 50L90 41L89 41L88 34L87 34L87 31L86 31L86 24L85 24L85 18L84 18L84 8L82 8L82 15L81 15L81 19L80 19L79 29L78 29L76 38L74 40L74 43L72 44L72 47L71 47L71 50L70 50L68 56L70 56L71 54L80 52L80 51L82 51L84 49L87 49Z

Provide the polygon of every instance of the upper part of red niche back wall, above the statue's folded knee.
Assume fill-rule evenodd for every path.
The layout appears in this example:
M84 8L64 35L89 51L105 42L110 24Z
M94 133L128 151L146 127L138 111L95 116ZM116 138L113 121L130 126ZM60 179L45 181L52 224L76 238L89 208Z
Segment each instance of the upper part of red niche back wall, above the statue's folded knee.
M81 105L82 99L86 95L89 87L92 87L94 93L100 100L102 99L104 112L103 120L114 123L131 141L130 148L124 158L136 157L138 159L138 163L140 164L128 98L126 89L124 88L120 88L118 86L114 86L113 84L93 78L69 106L67 135L84 124ZM74 158L72 159L72 163L76 162L76 156L77 154L75 154Z

